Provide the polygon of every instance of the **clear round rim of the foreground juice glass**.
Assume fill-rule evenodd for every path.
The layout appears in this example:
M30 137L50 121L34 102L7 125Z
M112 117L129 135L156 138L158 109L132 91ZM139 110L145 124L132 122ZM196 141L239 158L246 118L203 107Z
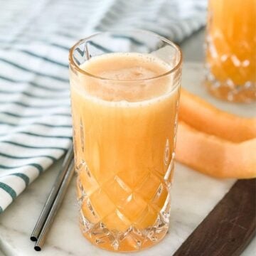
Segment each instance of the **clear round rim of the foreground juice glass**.
M174 47L175 50L179 53L179 60L178 60L178 63L176 63L174 65L173 68L171 68L169 71L167 71L166 73L163 73L161 75L156 75L154 77L151 77L151 78L143 78L143 79L136 79L136 80L120 80L120 79L113 79L113 78L102 78L98 75L93 75L92 73L89 73L85 70L82 70L82 68L80 68L80 66L75 63L75 60L73 58L73 53L75 51L75 48L77 48L81 43L84 43L85 41L88 41L90 40L90 38L94 38L95 36L98 36L100 34L106 34L106 33L129 33L129 32L139 32L139 33L147 33L151 36L155 36L159 39L161 39L161 41L164 41L165 43L168 43L170 46ZM106 53L107 54L107 53ZM88 75L92 78L97 78L97 79L100 79L100 80L108 80L108 81L116 81L116 82L138 82L138 81L145 81L145 80L154 80L154 79L157 79L157 78L163 78L165 77L166 75L170 75L171 73L174 73L176 70L178 70L178 68L181 67L181 63L182 63L182 58L183 58L183 55L182 55L182 52L181 52L181 48L179 46L176 45L176 43L170 41L169 39L167 38L164 38L164 36L160 36L158 35L157 33L154 33L154 32L151 32L151 31L146 31L146 30L143 30L143 29L127 29L127 30L110 30L110 31L103 31L103 32L97 32L97 33L93 33L91 36L87 36L86 38L82 38L80 39L77 43L75 43L74 46L72 46L69 50L69 65L72 67L72 68L75 68L75 70L77 70L79 73L82 73L84 75Z

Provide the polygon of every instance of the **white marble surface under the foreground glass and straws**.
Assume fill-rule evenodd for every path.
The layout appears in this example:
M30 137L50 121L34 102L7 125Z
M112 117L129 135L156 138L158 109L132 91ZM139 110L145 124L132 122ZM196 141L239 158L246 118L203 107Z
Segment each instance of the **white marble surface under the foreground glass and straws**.
M195 92L218 107L233 113L252 116L254 105L233 105L220 102L206 94L201 87L202 65L186 63L183 68L183 87ZM60 161L33 182L14 203L0 216L0 255L7 256L68 256L68 255L124 255L100 250L90 245L78 228L78 207L75 199L75 179L73 178L53 227L48 234L46 245L41 252L33 250L29 240L31 231L47 195L58 174ZM233 185L234 180L210 178L181 164L176 164L174 186L172 188L171 228L166 238L148 250L137 252L138 256L165 256L173 252L186 240L196 226L210 212ZM256 252L256 239L252 240L243 256Z

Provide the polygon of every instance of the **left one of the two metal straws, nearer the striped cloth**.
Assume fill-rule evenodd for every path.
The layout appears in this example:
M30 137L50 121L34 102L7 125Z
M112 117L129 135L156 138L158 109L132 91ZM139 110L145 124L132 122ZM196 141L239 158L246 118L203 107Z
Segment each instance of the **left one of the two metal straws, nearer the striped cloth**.
M43 230L43 226L46 223L46 220L48 218L48 215L50 213L50 210L53 206L53 203L55 201L55 198L57 199L58 191L60 191L60 186L62 185L65 175L68 173L70 166L74 166L74 163L72 163L74 157L73 153L73 145L70 145L70 149L68 150L65 159L63 161L63 164L60 169L60 173L58 174L55 183L53 184L53 188L50 191L50 194L47 198L45 206L43 206L43 210L41 212L41 215L38 218L38 221L36 223L35 228L33 229L33 232L31 234L31 240L36 242L38 240L38 237ZM70 163L72 163L70 165ZM73 172L71 171L73 174Z

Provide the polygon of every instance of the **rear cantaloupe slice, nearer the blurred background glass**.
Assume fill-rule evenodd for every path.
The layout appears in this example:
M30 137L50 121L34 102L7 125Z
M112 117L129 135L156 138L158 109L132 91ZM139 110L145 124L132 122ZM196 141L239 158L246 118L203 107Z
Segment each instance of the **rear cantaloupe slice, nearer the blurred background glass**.
M199 131L231 142L242 142L256 137L256 118L238 117L218 110L184 89L181 90L179 119Z

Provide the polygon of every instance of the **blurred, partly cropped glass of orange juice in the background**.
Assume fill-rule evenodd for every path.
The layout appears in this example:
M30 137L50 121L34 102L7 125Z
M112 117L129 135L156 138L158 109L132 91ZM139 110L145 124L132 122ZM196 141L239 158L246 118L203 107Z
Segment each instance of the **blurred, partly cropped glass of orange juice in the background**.
M225 100L256 100L256 0L208 4L206 85Z

